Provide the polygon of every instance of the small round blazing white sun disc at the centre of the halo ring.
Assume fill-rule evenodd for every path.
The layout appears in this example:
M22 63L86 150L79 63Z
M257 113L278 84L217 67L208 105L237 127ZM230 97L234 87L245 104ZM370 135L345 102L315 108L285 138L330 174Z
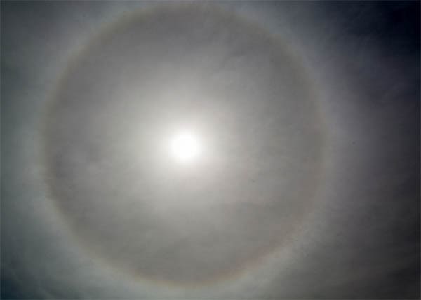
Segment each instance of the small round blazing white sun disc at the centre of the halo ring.
M178 132L171 139L171 154L182 163L196 160L201 154L201 145L196 135L189 131Z

